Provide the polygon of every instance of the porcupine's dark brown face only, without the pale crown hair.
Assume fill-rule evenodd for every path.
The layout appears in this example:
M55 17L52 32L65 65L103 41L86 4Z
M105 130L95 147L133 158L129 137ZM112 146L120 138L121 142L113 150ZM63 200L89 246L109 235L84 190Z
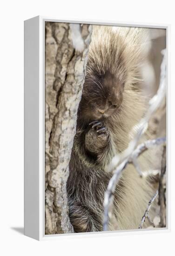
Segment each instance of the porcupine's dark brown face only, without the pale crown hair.
M106 71L87 74L81 98L81 115L86 119L108 118L120 110L123 99L122 84L114 74Z

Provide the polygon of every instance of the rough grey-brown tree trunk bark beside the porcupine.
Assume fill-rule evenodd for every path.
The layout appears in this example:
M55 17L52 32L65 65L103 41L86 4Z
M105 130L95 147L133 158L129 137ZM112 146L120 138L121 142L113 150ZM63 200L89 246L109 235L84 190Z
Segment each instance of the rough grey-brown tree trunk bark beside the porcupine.
M90 36L86 24L46 22L45 234L74 232L66 182Z

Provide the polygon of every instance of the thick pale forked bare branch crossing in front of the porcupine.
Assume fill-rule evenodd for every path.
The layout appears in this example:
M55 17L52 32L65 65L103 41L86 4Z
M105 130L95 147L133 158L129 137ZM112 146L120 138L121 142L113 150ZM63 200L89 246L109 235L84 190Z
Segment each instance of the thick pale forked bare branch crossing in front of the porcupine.
M145 130L148 126L148 121L149 121L150 117L155 113L155 111L160 106L162 100L164 99L164 97L166 95L166 49L164 49L162 51L162 54L163 54L163 60L162 60L162 64L161 64L161 77L160 77L159 89L158 89L157 93L155 94L155 96L149 101L148 111L146 112L144 118L142 118L141 121L137 124L137 126L136 126L136 127L138 127L137 133L136 133L134 139L129 142L128 148L126 148L121 155L116 155L112 159L114 175L112 176L112 178L110 179L110 181L108 183L108 188L107 188L107 190L105 192L105 196L104 196L103 230L108 230L109 208L113 202L113 193L114 193L116 184L121 177L122 171L126 168L128 163L132 162L134 164L137 172L140 174L140 176L142 176L141 169L139 167L139 164L137 163L137 157L138 157L138 155L141 154L141 152L152 147L155 143L155 142L152 142L153 144L151 145L151 142L147 141L148 145L145 144L146 142L142 143L135 150L135 147L138 144L138 142L141 138L141 135L145 132ZM154 141L156 141L156 143L157 143L157 140L154 140ZM165 142L165 138L163 138L163 140L158 139L158 141L163 143L163 142Z

